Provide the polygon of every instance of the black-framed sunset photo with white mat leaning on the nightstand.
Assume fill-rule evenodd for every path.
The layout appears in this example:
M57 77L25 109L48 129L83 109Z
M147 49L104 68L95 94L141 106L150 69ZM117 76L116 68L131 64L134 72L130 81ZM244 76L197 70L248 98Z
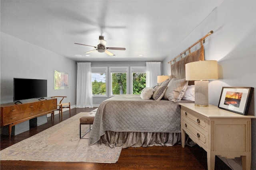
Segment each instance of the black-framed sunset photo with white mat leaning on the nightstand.
M253 90L253 87L222 87L218 107L247 115Z

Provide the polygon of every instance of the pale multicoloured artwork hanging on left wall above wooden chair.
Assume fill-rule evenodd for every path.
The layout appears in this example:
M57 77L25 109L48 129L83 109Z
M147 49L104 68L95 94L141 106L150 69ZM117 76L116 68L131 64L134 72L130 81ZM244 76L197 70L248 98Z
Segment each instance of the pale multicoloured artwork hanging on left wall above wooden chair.
M68 74L54 70L54 89L68 88Z

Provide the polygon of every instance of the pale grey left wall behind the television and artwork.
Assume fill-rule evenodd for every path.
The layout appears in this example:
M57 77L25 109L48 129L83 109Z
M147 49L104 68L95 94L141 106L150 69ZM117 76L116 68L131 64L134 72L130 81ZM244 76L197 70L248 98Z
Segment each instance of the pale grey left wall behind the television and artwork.
M13 78L47 80L47 96L67 96L76 104L76 63L1 32L1 104L13 102ZM68 73L68 88L54 90L54 70Z

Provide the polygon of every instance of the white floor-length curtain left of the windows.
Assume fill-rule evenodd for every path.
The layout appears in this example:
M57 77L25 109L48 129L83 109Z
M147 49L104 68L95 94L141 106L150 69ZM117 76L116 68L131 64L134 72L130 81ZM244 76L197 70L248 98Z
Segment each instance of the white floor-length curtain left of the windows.
M77 63L76 107L93 107L91 63Z

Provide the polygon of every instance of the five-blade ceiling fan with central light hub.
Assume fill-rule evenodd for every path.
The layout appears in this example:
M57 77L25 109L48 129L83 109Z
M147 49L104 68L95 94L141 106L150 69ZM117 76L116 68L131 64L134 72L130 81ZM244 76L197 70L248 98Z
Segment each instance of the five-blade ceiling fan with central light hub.
M106 46L106 40L104 40L104 37L100 35L99 37L99 40L100 40L100 43L98 44L97 47L95 46L92 46L92 45L86 45L86 46L90 46L90 47L94 47L95 49L94 50L91 50L91 51L87 51L87 53L91 53L93 51L98 51L100 53L107 53L108 55L113 55L110 51L108 51L108 49L110 50L126 50L125 48L120 48L120 47L105 47ZM79 44L79 43L75 43L75 44L78 44L78 45L85 45L85 44Z

